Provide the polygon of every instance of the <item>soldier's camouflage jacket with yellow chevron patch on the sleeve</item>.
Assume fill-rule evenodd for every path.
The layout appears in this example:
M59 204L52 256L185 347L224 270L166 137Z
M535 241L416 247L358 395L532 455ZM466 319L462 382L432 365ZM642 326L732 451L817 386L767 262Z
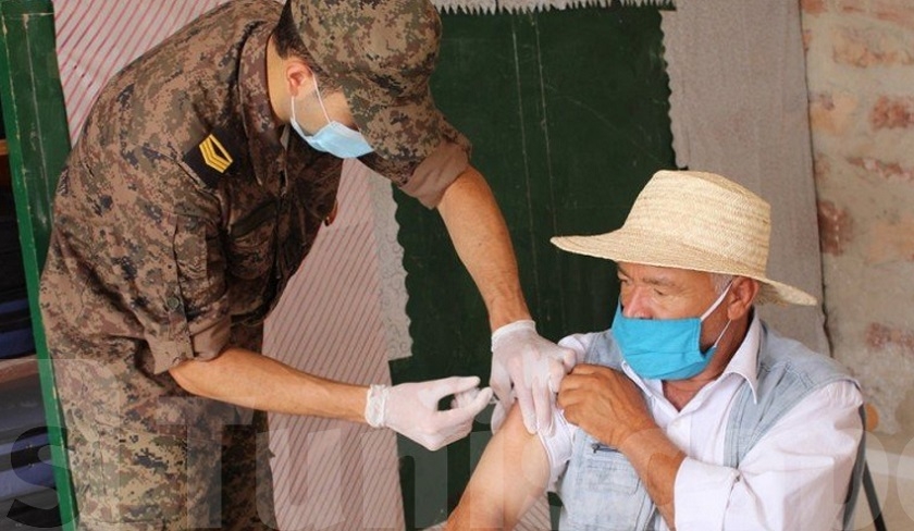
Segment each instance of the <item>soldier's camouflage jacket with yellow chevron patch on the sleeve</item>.
M97 360L139 384L230 342L259 349L342 169L272 113L265 51L281 9L227 2L99 95L54 200L41 309L55 358ZM468 163L454 137L449 165L362 160L433 206Z

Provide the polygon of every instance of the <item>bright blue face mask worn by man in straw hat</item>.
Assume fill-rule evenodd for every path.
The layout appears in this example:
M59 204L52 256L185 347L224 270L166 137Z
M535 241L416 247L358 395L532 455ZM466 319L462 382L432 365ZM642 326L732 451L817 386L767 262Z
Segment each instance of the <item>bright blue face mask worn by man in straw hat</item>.
M730 326L730 321L711 348L702 353L702 322L727 295L727 289L700 318L689 319L630 319L622 314L622 305L616 306L613 336L628 365L644 379L685 380L702 372L717 350L717 343Z

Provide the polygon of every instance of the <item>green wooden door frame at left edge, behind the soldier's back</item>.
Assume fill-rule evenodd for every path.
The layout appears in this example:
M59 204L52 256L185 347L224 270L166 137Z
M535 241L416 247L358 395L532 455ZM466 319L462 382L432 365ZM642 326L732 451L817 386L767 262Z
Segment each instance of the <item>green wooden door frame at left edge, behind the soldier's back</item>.
M0 0L2 102L20 243L45 403L61 522L75 529L64 425L38 309L38 282L51 232L54 188L70 152L70 133L57 62L51 0Z

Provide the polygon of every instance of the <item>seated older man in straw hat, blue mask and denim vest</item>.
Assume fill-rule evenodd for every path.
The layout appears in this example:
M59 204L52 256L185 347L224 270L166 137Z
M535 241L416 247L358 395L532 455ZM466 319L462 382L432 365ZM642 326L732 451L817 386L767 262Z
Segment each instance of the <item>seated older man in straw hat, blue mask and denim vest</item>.
M559 342L553 435L515 411L448 529L510 529L547 487L561 529L840 529L861 393L833 360L779 336L762 302L813 305L766 276L769 206L715 174L657 172L625 225L553 238L613 260L609 330Z

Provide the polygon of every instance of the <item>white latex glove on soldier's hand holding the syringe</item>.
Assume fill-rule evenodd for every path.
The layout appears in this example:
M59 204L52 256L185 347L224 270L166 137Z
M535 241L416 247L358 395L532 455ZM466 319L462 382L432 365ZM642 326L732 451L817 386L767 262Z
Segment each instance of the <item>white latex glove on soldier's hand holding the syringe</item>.
M492 398L492 390L479 390L479 376L450 376L388 387L372 385L365 419L373 428L390 428L436 450L467 436L473 419ZM439 410L439 400L455 395L452 408Z

